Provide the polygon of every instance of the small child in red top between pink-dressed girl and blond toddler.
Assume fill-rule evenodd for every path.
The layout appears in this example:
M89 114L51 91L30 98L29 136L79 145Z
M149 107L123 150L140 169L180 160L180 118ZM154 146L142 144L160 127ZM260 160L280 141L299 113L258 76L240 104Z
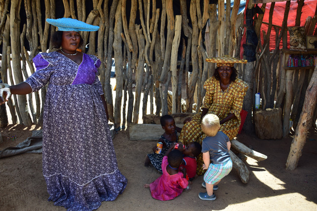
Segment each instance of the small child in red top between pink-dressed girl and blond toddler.
M189 181L192 181L194 177L196 177L196 157L201 153L201 145L200 143L193 141L187 144L184 150L182 151L184 157L181 161L181 168L186 169L187 176L189 177ZM191 184L191 182L190 182Z

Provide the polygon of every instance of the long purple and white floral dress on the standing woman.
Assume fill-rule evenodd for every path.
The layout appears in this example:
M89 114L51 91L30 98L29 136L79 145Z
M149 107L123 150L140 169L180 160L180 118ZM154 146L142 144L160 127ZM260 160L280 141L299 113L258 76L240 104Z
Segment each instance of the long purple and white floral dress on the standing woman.
M34 59L26 82L38 91L48 82L43 118L43 175L49 201L69 211L91 211L122 194L97 77L100 60L83 54L80 65L54 51Z

